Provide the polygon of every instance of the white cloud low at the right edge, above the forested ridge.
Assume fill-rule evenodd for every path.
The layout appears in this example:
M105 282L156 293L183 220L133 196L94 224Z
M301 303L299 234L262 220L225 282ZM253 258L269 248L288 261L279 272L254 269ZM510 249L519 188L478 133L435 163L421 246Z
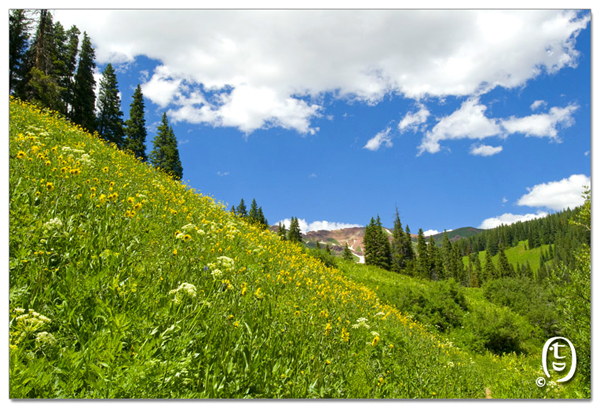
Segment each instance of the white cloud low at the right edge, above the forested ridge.
M590 178L583 174L573 174L560 181L537 184L528 188L529 193L522 196L517 204L556 211L564 210L567 207L575 208L584 202L581 197L583 186L591 186Z

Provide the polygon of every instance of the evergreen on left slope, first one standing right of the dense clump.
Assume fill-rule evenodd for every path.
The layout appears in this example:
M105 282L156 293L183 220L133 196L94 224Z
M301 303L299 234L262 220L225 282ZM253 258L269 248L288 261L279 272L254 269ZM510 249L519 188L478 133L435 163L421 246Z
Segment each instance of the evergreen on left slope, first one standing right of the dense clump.
M98 133L107 142L115 143L117 147L122 148L125 142L123 112L121 112L117 74L110 63L106 65L100 79L97 105Z

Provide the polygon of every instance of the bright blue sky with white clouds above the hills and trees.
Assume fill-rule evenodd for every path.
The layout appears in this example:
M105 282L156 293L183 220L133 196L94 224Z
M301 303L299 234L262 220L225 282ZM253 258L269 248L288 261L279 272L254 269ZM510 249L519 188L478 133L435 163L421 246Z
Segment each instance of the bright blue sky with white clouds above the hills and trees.
M589 12L90 11L125 118L142 84L184 180L274 224L492 227L582 203L591 177ZM162 27L156 30L156 27ZM100 72L98 72L100 75ZM99 79L99 76L98 76Z

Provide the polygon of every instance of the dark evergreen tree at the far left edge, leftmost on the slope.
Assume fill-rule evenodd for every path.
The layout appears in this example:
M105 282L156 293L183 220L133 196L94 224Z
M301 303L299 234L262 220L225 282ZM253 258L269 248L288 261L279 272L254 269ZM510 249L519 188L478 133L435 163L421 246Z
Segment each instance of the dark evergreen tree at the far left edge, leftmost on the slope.
M9 15L9 92L24 98L23 81L26 75L26 53L29 47L31 20L25 10L11 10Z

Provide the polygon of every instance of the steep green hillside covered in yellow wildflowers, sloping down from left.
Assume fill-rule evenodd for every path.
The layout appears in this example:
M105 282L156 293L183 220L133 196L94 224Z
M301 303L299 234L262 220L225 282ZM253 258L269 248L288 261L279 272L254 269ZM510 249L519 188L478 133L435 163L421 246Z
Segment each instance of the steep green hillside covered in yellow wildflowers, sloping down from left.
M11 398L557 398L97 137L10 103Z

